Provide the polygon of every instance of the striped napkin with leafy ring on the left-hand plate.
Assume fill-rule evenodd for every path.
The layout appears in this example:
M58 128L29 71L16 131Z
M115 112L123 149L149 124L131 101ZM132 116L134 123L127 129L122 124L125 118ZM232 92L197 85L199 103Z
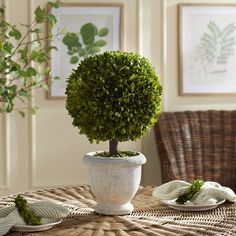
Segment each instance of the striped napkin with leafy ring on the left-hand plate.
M60 219L70 212L64 206L53 202L30 203L30 208L41 218ZM9 232L14 225L25 225L15 206L0 208L0 236Z

